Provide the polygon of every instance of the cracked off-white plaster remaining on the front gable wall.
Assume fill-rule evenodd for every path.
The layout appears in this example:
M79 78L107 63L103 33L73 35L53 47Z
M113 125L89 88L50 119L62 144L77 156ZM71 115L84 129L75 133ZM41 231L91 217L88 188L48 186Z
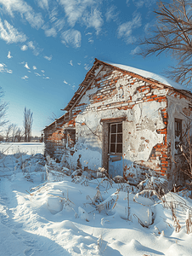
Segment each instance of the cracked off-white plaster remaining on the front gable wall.
M99 73L99 72L98 72ZM107 70L99 73L103 79ZM106 79L110 82L121 73L114 71ZM104 80L104 79L103 79ZM103 83L103 81L102 81ZM98 96L99 92L104 95L104 86L97 86L94 81L90 90L82 96L79 104L87 104L87 107L76 117L76 146L75 153L71 155L70 162L76 164L80 157L82 168L88 167L97 170L102 166L102 124L100 119L116 119L126 117L123 121L123 166L128 167L139 160L149 160L152 148L157 143L163 143L164 134L157 133L157 130L164 129L165 124L161 117L161 108L167 108L167 102L138 102L145 95L146 91L138 91L142 85L149 85L144 81L134 79L129 75L117 79L110 96L104 101L93 102L93 97ZM102 91L103 89L103 91ZM165 96L167 90L153 89L150 93L157 96ZM132 99L130 101L130 99ZM129 100L129 103L127 101ZM122 101L124 106L129 108L121 109ZM114 108L106 106L119 102ZM100 106L104 109L99 109ZM156 160L155 165L159 164ZM126 172L128 172L126 170Z

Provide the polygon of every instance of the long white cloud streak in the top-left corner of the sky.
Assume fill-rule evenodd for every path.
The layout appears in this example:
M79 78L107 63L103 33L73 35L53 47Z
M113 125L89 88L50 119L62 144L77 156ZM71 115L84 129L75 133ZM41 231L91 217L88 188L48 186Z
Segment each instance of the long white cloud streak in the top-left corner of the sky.
M0 0L0 3L3 4L4 10L9 15L14 17L14 12L20 13L21 17L25 18L32 27L39 29L44 23L42 15L36 14L31 6L23 0Z

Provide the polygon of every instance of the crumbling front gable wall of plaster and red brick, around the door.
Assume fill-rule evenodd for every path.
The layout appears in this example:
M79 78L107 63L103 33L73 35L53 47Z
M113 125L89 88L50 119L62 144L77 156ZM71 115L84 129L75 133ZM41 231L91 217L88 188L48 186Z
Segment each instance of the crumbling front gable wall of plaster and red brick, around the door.
M104 67L72 110L76 145L68 160L72 166L98 169L104 164L102 148L104 123L101 119L123 121L124 177L138 177L142 170L167 176L167 92L127 73ZM139 166L139 168L138 168ZM136 168L137 167L137 168ZM139 170L137 172L137 170Z

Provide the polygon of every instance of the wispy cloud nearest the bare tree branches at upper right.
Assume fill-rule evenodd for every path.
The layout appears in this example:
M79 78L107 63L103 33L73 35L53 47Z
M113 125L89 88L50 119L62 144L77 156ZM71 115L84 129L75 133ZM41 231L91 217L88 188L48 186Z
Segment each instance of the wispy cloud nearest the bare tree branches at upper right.
M133 37L133 29L141 26L141 15L138 13L133 14L133 20L121 24L117 30L118 38L124 38L127 44L133 44L136 38Z

